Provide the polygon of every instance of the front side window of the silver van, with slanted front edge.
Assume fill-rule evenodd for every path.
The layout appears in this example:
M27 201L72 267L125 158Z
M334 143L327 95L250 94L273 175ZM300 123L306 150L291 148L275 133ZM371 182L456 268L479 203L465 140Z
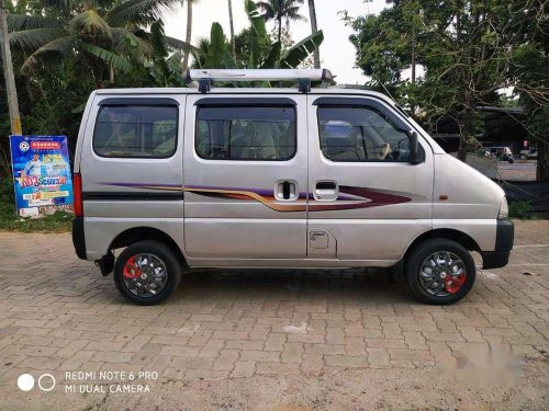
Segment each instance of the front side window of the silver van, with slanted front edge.
M408 162L405 130L371 106L318 107L321 148L332 161Z

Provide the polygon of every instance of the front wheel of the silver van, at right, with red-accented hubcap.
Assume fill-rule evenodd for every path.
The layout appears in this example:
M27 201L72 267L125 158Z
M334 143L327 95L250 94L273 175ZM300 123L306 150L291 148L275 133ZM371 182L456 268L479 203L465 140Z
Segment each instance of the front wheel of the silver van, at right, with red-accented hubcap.
M469 251L447 239L422 242L411 251L405 264L414 296L426 304L459 301L471 290L477 275Z

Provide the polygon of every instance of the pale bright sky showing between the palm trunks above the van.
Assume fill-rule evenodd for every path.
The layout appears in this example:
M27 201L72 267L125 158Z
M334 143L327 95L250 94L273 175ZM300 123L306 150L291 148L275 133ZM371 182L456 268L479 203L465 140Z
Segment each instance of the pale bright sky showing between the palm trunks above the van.
M367 13L379 13L385 7L383 0L373 0L365 3L362 0L316 0L316 20L318 28L324 32L324 43L321 46L322 67L330 69L337 76L339 83L362 84L366 77L361 70L355 68L355 46L349 42L352 31L345 26L339 11L347 10L349 15L358 16ZM235 20L235 32L247 27L248 19L244 11L244 0L233 0L233 14ZM307 18L307 22L292 22L291 34L294 41L300 41L311 33L309 23L307 2L301 8L301 14ZM228 36L228 10L227 0L201 0L193 7L192 39L210 36L210 27L213 22L219 22ZM184 39L187 24L187 2L176 13L166 19L166 34ZM269 28L272 27L269 23Z

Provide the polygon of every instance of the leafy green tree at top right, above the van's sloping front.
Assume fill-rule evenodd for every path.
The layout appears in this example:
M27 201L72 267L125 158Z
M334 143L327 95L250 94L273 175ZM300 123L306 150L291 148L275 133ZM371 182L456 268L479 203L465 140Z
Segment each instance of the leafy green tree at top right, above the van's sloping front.
M379 15L345 16L355 31L357 64L371 76L370 85L389 91L427 128L450 114L461 130L460 158L484 130L477 107L500 104L497 90L514 87L538 111L549 104L547 2L388 3ZM403 78L414 67L424 75Z

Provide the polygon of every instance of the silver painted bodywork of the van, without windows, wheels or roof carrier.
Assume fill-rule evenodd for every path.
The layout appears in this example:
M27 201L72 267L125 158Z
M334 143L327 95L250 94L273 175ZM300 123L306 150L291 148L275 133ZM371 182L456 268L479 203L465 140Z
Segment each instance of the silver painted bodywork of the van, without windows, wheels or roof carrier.
M320 147L317 106L313 102L318 96L334 95L381 102L417 132L425 161L410 164L326 159ZM167 159L96 155L92 136L99 103L113 96L176 100L179 117L175 155ZM313 89L310 94L300 94L294 89L277 89L276 93L272 89L212 89L208 93L209 98L221 100L228 96L292 100L296 111L298 149L288 161L200 158L194 147L194 103L203 96L191 89L100 90L92 93L85 110L75 156L75 172L82 175L83 192L115 197L116 193L157 193L158 187L169 187L181 197L86 199L85 236L89 260L107 254L119 235L137 227L168 235L191 267L391 266L403 258L415 239L434 229L463 232L482 251L494 250L503 191L472 168L446 155L384 95L337 89ZM256 192L276 192L281 181L295 183L302 195L291 201L277 199L276 193L273 198L255 195ZM367 190L367 194L372 191L407 199L376 207L332 209L345 204L345 198L338 199L339 192L318 198L316 183L322 181L335 182L336 191L346 186L360 187ZM204 195L209 187L217 194L236 190L248 197ZM440 199L444 195L448 198ZM349 201L352 202L356 198ZM324 206L327 209L323 209Z

